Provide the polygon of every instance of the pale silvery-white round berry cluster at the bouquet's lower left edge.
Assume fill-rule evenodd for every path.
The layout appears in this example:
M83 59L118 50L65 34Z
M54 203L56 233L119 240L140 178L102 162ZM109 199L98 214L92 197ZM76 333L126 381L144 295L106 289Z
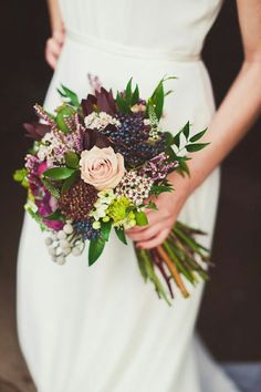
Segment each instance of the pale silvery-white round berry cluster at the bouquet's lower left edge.
M75 235L73 226L70 223L64 225L62 230L52 231L45 238L45 245L53 261L59 265L63 265L66 261L66 256L70 254L80 256L84 249L84 243Z

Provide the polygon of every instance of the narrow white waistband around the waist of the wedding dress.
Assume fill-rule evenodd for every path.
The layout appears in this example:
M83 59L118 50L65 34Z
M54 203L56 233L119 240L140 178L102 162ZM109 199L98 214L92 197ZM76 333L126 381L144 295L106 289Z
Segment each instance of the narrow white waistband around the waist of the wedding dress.
M70 41L92 47L97 50L106 51L112 54L136 58L143 60L169 60L174 62L196 62L200 61L200 54L190 54L176 52L174 50L160 50L160 49L149 49L149 48L138 48L130 45L123 45L117 42L106 41L93 35L86 35L81 32L66 29L66 38Z

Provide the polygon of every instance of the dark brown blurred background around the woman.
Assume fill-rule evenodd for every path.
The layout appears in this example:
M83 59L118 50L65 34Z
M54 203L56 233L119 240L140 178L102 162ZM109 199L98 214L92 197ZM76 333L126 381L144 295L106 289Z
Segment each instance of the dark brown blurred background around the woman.
M33 118L32 105L42 103L52 76L44 61L50 35L45 1L2 2L0 30L0 392L33 392L15 331L15 258L25 192L13 183L12 173L22 166L30 146L21 124ZM242 60L234 1L225 1L203 59L219 104ZM216 267L198 319L198 330L211 353L227 371L237 373L243 391L251 392L261 391L260 126L260 122L253 126L222 165L212 256Z

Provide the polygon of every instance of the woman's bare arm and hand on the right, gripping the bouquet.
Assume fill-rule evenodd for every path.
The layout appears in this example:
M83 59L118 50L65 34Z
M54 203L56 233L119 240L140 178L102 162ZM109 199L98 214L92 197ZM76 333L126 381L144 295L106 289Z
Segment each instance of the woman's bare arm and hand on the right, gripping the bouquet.
M239 143L261 112L261 0L238 0L238 13L244 61L206 135L210 145L189 162L190 178L169 175L177 190L155 200L158 210L148 212L149 225L128 230L138 247L153 248L166 239L187 197Z

